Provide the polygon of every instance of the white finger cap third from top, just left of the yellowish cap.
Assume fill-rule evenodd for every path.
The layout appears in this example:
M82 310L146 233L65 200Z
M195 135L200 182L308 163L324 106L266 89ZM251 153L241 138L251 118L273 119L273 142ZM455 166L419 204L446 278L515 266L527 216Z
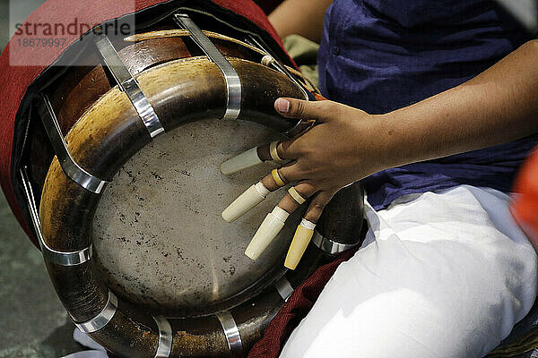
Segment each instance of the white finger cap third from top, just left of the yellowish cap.
M279 207L275 207L272 212L267 214L264 222L257 229L256 234L254 234L254 237L248 244L245 255L252 260L256 260L276 235L280 233L289 216L290 214L288 212Z

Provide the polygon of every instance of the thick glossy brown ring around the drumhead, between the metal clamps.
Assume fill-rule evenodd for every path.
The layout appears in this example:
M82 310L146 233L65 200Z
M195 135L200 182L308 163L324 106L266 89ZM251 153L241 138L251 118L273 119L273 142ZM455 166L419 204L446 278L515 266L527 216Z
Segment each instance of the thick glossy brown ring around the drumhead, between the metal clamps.
M301 98L291 81L279 72L254 62L230 58L239 73L244 96L244 119L274 127L282 119L273 110L278 97ZM136 76L166 131L181 124L220 118L225 109L225 81L217 66L205 57L190 57L161 64ZM263 96L260 96L263 93ZM280 128L277 128L280 129ZM66 135L74 159L88 172L111 179L126 161L151 139L124 93L108 90L82 115ZM42 191L39 216L49 247L78 251L91 244L92 219L100 195L85 191L65 176L54 158ZM309 249L292 275L293 285L317 267L323 254ZM48 263L56 292L75 322L91 320L108 300L108 287L97 274L93 260L74 267ZM248 349L282 305L273 286L255 299L231 309ZM214 316L170 320L174 334L170 356L229 356L229 347L219 320ZM125 357L153 357L159 342L158 328L151 315L120 301L113 319L92 333L112 353Z

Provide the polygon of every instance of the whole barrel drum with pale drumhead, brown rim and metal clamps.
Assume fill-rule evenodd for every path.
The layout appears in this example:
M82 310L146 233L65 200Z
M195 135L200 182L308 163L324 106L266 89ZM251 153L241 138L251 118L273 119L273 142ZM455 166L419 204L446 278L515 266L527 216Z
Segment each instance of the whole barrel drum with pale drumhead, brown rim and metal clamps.
M273 101L313 89L256 33L196 9L91 41L35 94L43 127L20 171L56 292L111 354L246 354L293 287L359 238L356 185L294 271L282 266L292 226L260 260L243 254L277 197L236 223L220 216L270 166L229 178L220 163L289 134Z

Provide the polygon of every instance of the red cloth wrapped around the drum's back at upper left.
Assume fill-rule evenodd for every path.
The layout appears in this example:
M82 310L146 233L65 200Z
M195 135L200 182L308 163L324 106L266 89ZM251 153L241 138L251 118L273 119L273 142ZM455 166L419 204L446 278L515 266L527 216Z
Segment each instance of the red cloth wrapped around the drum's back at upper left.
M130 1L101 0L101 1L73 1L73 0L48 0L38 10L30 15L25 21L30 23L50 24L65 23L77 19L79 23L99 24L112 20L126 13L143 10L155 4L166 3L169 0L135 0L135 6ZM267 31L273 39L282 47L280 38L276 35L273 27L267 21L265 13L251 0L212 0L214 4L229 9L248 20L254 22L259 28ZM190 3L192 4L192 3ZM67 15L68 14L68 15ZM22 210L15 200L12 183L12 157L13 157L13 129L15 116L22 103L26 90L30 84L38 78L39 74L52 64L63 49L74 43L79 35L62 35L66 38L65 47L21 47L17 46L19 39L31 38L31 36L15 36L0 55L0 183L5 197L9 202L15 217L34 241L30 230L22 216ZM44 65L30 66L10 65L10 56L15 56L19 64Z

